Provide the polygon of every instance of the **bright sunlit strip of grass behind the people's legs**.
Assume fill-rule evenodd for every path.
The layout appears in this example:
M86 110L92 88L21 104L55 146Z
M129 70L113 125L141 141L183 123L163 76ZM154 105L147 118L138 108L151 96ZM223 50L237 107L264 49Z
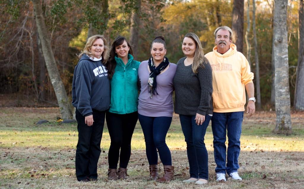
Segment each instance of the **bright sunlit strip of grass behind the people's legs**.
M290 136L275 135L271 131L274 125L271 124L243 124L241 135L241 149L245 151L304 151L304 138L299 137L304 133L300 125L294 126L294 133ZM58 124L49 122L41 125L14 124L13 126L0 127L0 147L36 147L46 148L76 148L78 131L76 124ZM186 143L181 131L178 119L172 121L166 137L166 143L170 149L185 149ZM213 151L213 135L211 123L209 124L205 144L207 150ZM226 140L226 145L228 140ZM109 149L110 137L105 124L101 147ZM133 138L132 149L145 149L144 136L139 122L137 122Z

